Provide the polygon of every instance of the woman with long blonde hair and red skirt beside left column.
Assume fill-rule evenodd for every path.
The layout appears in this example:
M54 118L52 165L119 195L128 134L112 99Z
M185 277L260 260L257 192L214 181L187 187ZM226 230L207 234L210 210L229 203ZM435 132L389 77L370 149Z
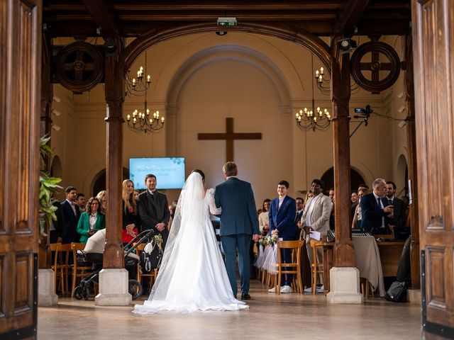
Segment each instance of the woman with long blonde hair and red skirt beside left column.
M138 234L139 218L137 201L134 198L134 183L130 179L123 181L123 231L122 242L128 244Z

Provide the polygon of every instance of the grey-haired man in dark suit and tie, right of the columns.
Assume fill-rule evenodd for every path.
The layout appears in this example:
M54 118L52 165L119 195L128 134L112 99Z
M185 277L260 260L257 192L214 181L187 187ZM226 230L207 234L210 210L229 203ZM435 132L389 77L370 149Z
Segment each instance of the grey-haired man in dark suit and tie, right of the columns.
M389 234L387 217L392 217L394 208L383 203L386 181L376 179L372 183L372 193L361 198L362 229L371 234Z

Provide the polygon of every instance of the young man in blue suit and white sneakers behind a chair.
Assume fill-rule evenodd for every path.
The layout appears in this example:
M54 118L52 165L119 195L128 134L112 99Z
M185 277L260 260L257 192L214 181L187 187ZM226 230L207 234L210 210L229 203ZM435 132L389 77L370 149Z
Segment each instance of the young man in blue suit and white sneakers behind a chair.
M295 216L297 215L297 203L295 200L287 196L289 190L289 182L280 181L277 183L277 195L270 203L270 211L268 212L268 220L270 220L270 234L279 236L283 241L292 241L295 239L297 232L297 223ZM284 263L292 262L292 250L282 249L282 261ZM292 293L292 274L282 274L281 293ZM274 293L276 288L268 290Z

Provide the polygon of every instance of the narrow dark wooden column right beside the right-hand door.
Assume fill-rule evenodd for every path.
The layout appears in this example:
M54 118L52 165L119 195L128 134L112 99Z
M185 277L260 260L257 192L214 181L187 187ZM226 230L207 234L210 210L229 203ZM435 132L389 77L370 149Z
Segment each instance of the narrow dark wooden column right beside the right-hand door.
M411 288L419 289L421 260L419 257L419 217L418 217L418 164L416 163L416 127L414 121L414 77L413 77L413 51L411 32L405 38L405 88L406 88L406 117L407 145L409 150L409 179L411 179L412 203L409 208L411 245Z

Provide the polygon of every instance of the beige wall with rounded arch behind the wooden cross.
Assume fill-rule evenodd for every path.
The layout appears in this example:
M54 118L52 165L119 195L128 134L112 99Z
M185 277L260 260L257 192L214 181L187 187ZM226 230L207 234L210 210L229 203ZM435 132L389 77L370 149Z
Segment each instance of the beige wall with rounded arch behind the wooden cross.
M400 52L400 40L388 43ZM131 67L134 74L145 55ZM193 168L206 172L208 186L222 181L221 166L225 142L199 141L198 132L223 132L225 118L233 117L236 132L262 132L260 141L235 142L235 159L240 177L251 181L257 205L276 196L277 181L290 182L290 194L309 188L310 181L333 166L332 131L301 132L294 113L311 105L311 57L291 42L261 35L214 33L189 35L162 42L147 52L153 83L147 95L148 107L166 117L165 130L153 135L123 129L123 166L130 157L187 157L187 173ZM321 66L314 60L314 68ZM62 162L62 186L74 185L89 195L96 174L105 167L106 103L104 88L89 94L72 95L54 86L62 98L54 107L62 112L53 120L60 131L52 131L52 147ZM397 109L404 105L403 77L380 95L358 91L350 108L370 104L375 112L404 117ZM317 89L316 106L331 110L331 101ZM125 116L143 106L143 97L126 98ZM399 122L372 116L351 138L351 163L367 183L376 177L394 179L402 188L401 154L406 158L406 129ZM352 123L351 130L356 123ZM402 162L402 161L401 161ZM159 179L158 179L159 181ZM167 191L169 200L178 191Z

